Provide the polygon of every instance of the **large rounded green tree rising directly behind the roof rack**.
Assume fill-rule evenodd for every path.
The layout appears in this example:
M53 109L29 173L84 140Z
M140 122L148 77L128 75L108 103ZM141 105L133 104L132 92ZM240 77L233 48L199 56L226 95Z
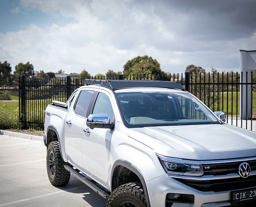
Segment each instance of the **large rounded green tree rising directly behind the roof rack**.
M127 75L147 75L147 74L164 74L161 71L160 64L156 59L144 55L143 57L138 56L132 60L128 60L124 65L124 76Z

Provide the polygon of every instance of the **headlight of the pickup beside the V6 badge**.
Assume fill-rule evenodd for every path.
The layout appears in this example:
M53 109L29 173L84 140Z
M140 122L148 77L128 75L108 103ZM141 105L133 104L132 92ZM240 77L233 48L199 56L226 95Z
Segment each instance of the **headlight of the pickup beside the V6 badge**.
M159 156L158 156L159 157ZM190 161L181 159L165 159L159 157L162 166L168 174L183 176L202 176L203 164L200 161Z

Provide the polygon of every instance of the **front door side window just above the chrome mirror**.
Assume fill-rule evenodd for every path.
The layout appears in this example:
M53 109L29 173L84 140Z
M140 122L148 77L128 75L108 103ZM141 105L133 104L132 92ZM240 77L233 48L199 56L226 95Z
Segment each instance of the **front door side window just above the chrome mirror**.
M110 122L114 122L114 112L111 102L106 94L99 93L92 113L106 113L110 117Z

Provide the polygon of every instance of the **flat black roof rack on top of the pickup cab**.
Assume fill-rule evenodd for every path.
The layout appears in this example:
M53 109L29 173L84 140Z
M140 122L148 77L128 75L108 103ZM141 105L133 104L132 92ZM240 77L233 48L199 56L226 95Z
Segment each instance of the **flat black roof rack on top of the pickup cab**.
M158 88L171 88L171 89L181 89L184 91L183 86L180 82L172 81L137 81L137 80L93 80L84 79L84 85L102 85L106 88L115 91L121 88L134 88L134 87L158 87Z

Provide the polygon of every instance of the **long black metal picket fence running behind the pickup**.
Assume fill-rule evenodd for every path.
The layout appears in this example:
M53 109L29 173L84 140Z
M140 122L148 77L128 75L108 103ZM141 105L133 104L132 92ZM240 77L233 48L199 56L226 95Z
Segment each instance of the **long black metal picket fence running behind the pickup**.
M91 79L163 80L181 82L213 111L223 111L227 123L255 130L256 77L252 73L207 73L86 77ZM43 112L53 100L66 102L83 85L80 77L0 79L0 128L43 129ZM9 94L10 98L8 95ZM241 100L240 100L241 95ZM2 97L2 98L1 98ZM240 117L245 119L239 121Z

